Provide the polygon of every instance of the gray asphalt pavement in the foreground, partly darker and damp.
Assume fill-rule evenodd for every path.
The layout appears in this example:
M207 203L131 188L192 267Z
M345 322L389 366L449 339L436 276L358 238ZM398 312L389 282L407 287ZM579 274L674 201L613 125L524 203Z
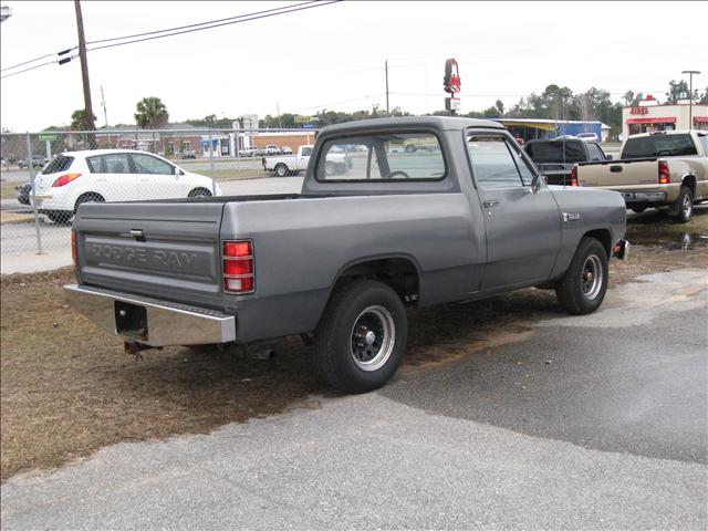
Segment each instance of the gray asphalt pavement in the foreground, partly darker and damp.
M645 277L376 393L14 477L2 527L705 530L707 289Z

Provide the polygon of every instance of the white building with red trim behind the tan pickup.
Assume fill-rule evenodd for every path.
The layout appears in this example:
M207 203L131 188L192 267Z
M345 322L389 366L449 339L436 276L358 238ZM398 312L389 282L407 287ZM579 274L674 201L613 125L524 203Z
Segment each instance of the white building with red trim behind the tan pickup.
M638 133L688 128L708 129L708 104L695 103L691 110L688 100L660 105L652 96L647 96L638 105L622 110L623 138Z

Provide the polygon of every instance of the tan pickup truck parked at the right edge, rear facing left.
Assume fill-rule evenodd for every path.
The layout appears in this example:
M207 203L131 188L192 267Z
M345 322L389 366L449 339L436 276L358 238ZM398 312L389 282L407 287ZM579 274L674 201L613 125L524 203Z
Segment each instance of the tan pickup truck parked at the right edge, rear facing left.
M667 131L627 138L618 160L579 163L571 183L616 190L627 208L656 208L687 222L708 199L708 132Z

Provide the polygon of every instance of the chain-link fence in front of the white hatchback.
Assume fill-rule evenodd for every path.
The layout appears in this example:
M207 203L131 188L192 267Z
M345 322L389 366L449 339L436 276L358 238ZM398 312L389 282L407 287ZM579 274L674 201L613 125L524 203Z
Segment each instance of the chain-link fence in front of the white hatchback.
M69 252L86 201L300 191L316 129L3 133L2 256Z

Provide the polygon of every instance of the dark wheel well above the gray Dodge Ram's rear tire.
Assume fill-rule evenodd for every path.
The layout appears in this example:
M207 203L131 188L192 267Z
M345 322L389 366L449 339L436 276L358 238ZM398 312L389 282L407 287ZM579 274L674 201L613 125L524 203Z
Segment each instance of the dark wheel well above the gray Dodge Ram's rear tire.
M355 263L340 274L335 289L351 280L377 280L391 287L405 305L415 306L420 288L418 269L405 258L386 258Z

